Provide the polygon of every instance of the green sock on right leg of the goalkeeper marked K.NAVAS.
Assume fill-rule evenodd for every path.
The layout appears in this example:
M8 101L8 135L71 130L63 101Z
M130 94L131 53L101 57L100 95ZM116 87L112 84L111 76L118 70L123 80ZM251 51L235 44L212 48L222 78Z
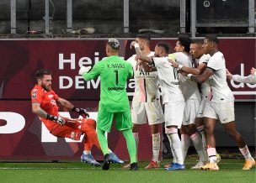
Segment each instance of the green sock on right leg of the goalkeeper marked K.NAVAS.
M136 143L132 131L131 129L127 129L122 132L126 139L126 145L131 158L131 164L136 163Z

